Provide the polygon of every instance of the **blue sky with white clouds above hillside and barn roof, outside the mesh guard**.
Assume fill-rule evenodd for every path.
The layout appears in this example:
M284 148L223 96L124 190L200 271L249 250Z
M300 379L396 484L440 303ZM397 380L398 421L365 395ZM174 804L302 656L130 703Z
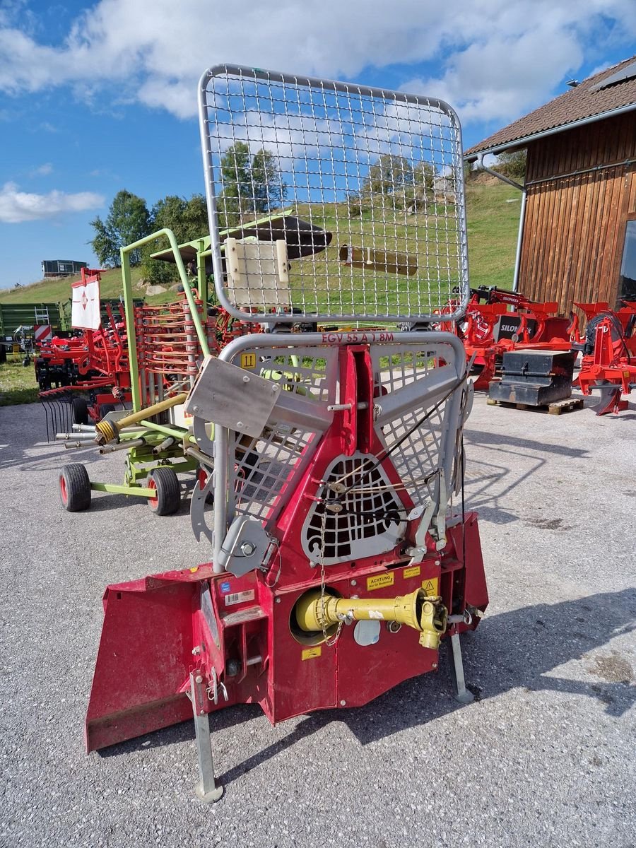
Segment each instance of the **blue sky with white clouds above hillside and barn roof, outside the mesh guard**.
M120 188L204 191L210 65L443 98L469 147L634 45L635 0L0 0L0 287L95 263L89 221Z

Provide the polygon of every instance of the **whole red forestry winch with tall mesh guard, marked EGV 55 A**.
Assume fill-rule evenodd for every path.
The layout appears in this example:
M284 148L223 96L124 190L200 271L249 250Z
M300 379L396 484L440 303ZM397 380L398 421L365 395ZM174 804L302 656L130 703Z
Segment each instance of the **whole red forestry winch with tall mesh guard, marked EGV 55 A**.
M163 401L155 383L156 402L181 407L181 444L206 470L191 518L209 561L106 589L86 748L193 717L197 795L215 801L209 716L226 706L258 703L271 722L360 706L436 671L442 642L456 695L470 701L460 634L477 627L488 593L463 501L466 354L455 334L430 330L454 292L449 321L469 297L455 112L227 65L206 71L199 98L215 290L254 332L208 355L191 309L203 365L187 372L192 384L162 384ZM264 142L265 126L275 131ZM220 167L236 141L265 144L309 223L304 249L284 215L276 228L220 231L220 219L276 202L242 187L237 210ZM432 196L432 171L453 187L447 203ZM143 422L106 416L101 444L153 414L135 388L148 352L137 353ZM153 353L162 368L166 355Z

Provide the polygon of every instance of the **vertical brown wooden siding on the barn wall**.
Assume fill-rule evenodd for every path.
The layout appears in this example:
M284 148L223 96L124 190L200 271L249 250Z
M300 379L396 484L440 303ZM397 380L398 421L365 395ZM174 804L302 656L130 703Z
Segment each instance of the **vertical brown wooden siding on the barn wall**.
M527 150L519 291L534 300L616 300L625 222L636 217L636 111ZM599 167L601 166L601 167Z

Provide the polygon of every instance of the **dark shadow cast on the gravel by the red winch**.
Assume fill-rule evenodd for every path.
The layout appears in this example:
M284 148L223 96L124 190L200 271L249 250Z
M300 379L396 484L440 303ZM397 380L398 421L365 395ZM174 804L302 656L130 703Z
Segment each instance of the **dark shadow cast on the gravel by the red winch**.
M449 667L440 651L441 670L413 678L363 707L312 713L284 739L271 745L220 776L230 784L272 756L292 747L331 722L343 722L368 745L407 728L424 728L428 722L461 709L479 709L477 702L524 689L530 699L535 692L554 691L599 700L605 712L619 717L636 703L634 670L616 650L603 649L610 639L636 629L636 590L590 595L557 604L537 604L519 610L485 616L475 633L462 637L466 680L476 695L472 706L461 706L452 695ZM567 662L581 661L577 678L563 678L554 670ZM210 717L213 747L215 730L235 727L262 715L258 706L232 706ZM263 732L266 739L266 730ZM192 722L113 745L99 753L120 756L194 739Z

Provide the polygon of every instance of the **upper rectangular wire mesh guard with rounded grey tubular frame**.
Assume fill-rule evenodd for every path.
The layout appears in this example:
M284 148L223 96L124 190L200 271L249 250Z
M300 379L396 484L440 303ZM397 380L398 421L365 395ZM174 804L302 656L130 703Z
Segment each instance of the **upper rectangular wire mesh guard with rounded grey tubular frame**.
M226 308L285 320L423 321L449 304L460 314L461 133L445 103L222 66L202 79L200 118Z

